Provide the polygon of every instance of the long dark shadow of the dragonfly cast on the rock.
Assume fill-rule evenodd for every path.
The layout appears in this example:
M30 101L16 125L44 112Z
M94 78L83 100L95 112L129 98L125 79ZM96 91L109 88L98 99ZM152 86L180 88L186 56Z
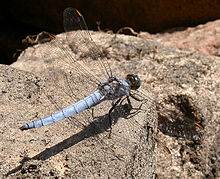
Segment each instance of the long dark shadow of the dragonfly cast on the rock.
M119 109L120 108L120 109ZM132 110L132 107L129 104L121 104L120 106L116 106L114 110L111 113L111 116L114 117L114 123L117 123L119 118L125 118L128 119L133 116L133 113L131 114L130 111ZM119 112L123 111L123 112ZM98 134L101 134L108 129L110 129L110 123L109 123L109 114L105 114L103 116L98 116L98 117L93 117L94 120L91 122L88 126L86 126L82 131L80 131L77 134L74 134L70 136L69 138L65 139L64 141L45 149L41 153L35 155L34 157L28 158L25 157L23 160L20 161L20 165L12 170L10 170L7 174L6 177L18 172L19 170L22 169L22 166L25 164L25 162L30 161L30 160L47 160L52 156L55 156L59 152L62 152L65 149L68 149L75 144L79 143L80 141L96 136ZM113 126L114 127L114 126Z

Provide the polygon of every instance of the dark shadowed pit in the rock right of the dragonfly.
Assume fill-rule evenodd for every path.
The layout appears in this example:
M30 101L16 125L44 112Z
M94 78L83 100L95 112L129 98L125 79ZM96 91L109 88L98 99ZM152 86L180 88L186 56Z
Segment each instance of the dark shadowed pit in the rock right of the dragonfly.
M195 143L201 141L201 131L195 123L204 121L199 110L187 95L171 95L165 103L170 105L164 112L158 112L158 128L170 137L184 138Z

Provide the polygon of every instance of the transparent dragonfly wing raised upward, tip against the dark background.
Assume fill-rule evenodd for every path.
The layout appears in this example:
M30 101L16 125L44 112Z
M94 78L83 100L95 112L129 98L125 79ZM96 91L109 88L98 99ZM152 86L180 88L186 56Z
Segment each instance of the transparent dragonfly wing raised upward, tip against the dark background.
M97 61L99 74L104 74L105 78L112 76L110 65L106 54L97 47L91 38L88 27L81 13L74 8L66 8L63 12L63 26L67 32L67 41L75 52L83 53L83 56L90 56Z

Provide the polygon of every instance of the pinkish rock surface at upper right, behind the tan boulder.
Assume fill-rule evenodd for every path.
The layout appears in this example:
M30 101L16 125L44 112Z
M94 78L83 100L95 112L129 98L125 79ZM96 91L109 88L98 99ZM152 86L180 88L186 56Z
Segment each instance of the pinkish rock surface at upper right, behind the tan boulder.
M154 39L162 45L178 47L181 50L220 56L220 20L194 28L174 28L155 35L142 32L138 36Z

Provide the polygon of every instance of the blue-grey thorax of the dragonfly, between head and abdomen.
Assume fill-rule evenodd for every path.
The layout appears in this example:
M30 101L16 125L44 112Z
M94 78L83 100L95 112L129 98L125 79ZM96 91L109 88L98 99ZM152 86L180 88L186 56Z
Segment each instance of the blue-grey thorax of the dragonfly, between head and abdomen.
M107 82L101 83L98 89L105 95L105 99L113 100L129 95L130 85L120 77L111 77Z

